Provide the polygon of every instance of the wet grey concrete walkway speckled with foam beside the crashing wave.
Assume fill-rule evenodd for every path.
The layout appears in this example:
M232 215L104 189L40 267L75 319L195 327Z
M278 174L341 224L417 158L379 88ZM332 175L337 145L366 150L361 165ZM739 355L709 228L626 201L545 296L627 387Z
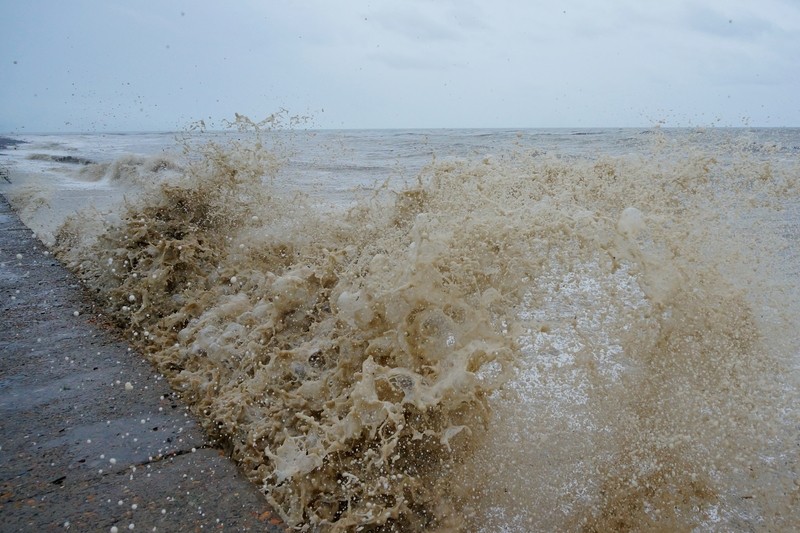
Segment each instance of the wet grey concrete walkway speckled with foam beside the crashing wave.
M283 531L0 197L0 530Z

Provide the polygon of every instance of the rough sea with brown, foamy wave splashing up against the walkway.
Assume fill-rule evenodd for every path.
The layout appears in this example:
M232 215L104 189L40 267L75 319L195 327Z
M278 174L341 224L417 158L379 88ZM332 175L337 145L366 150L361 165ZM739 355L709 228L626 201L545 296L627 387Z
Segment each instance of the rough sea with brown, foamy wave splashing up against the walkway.
M288 524L800 528L800 130L239 125L0 192Z

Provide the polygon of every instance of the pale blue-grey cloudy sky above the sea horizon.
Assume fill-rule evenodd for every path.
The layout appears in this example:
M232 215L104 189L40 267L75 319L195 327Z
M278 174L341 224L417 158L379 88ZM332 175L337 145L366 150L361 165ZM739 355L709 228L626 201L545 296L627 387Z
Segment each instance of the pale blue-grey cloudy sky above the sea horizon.
M0 132L800 126L798 0L0 0Z

